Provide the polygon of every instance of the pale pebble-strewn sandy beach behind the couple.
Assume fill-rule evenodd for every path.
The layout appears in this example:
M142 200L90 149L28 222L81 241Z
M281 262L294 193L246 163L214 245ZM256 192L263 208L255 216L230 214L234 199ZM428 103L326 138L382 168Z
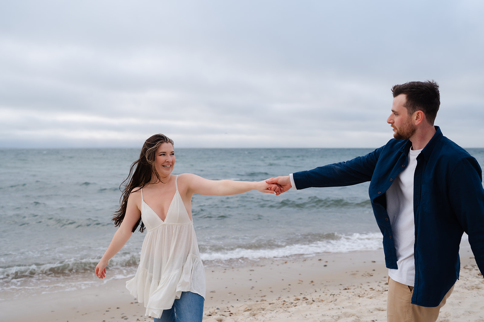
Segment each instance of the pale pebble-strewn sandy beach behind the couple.
M483 276L468 244L462 246L461 277L440 322L484 322ZM386 321L388 271L382 251L212 264L206 273L206 322ZM125 280L3 301L0 320L152 321L127 292Z

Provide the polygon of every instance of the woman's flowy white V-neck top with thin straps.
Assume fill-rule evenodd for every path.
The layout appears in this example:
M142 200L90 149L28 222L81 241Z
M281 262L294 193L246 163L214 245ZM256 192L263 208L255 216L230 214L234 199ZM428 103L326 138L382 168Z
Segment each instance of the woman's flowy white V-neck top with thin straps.
M146 316L160 318L173 306L181 292L197 293L205 298L205 270L198 252L193 221L178 192L166 213L165 221L143 200L141 220L148 230L141 247L136 275L126 282L129 292L144 303Z

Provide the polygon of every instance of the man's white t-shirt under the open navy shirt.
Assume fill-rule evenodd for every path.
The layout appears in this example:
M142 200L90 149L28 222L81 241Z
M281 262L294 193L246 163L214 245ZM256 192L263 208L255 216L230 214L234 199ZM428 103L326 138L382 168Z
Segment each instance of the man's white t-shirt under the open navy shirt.
M421 150L408 152L407 167L393 180L386 192L387 211L393 231L398 269L388 269L388 276L399 283L413 286L415 283L415 223L413 214L413 177L417 156Z

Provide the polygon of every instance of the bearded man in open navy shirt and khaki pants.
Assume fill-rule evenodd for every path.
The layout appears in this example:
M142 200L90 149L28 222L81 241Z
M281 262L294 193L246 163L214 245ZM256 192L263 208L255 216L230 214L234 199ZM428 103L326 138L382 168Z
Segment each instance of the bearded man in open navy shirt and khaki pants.
M389 268L387 320L436 321L459 277L463 232L484 273L484 189L477 161L434 126L439 85L392 88L393 137L347 162L268 179L285 192L370 181Z

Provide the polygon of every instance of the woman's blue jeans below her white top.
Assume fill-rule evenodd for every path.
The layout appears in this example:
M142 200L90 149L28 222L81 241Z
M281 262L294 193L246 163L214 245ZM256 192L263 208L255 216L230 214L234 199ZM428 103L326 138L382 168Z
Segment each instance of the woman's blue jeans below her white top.
M192 292L181 292L170 309L163 310L159 319L154 322L202 322L203 302L205 299Z

